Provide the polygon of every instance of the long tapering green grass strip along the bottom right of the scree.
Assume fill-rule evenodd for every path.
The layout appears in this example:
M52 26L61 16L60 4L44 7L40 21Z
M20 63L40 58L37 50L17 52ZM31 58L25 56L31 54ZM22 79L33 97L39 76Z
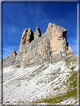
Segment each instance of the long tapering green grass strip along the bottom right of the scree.
M50 96L50 98L46 98L46 99L41 99L41 100L37 100L37 101L35 101L35 102L33 102L33 103L51 103L51 104L54 104L54 103L60 103L60 102L62 102L62 101L64 101L64 100L67 100L68 98L77 98L77 89L75 88L75 89L73 89L73 90L68 90L67 92L66 92L66 94L59 94L59 96L57 96L57 97L51 97Z

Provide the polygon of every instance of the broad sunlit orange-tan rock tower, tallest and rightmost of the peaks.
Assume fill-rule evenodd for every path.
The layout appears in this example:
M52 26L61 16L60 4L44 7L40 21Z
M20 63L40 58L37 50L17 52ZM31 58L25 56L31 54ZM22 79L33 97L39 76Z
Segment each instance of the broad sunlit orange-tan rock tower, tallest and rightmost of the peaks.
M56 24L49 23L47 33L50 36L50 46L52 50L51 56L67 56L66 51L68 50L68 42L66 38L67 30Z

